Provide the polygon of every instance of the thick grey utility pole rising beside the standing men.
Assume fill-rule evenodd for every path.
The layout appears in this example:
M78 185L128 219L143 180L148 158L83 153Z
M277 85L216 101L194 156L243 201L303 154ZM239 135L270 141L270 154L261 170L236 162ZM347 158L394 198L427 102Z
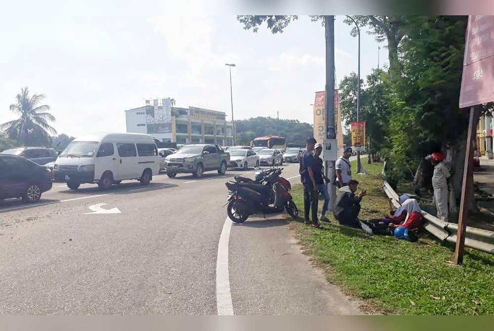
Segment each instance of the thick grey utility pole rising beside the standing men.
M326 29L326 139L335 139L335 119L334 119L334 16L324 17ZM330 179L329 190L329 210L334 210L336 201L336 189L334 177L336 176L335 161L325 161L326 177Z

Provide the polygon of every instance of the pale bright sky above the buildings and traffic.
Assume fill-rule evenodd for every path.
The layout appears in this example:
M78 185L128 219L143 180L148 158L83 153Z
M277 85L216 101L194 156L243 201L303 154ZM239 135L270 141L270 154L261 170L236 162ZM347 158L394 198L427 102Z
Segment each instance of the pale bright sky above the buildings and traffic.
M300 16L283 34L243 29L233 14L189 8L187 1L8 1L0 13L0 122L21 87L44 93L59 133L124 131L124 110L145 98L176 106L312 124L314 92L324 90L321 22ZM179 2L179 1L175 1ZM335 22L339 82L357 71L357 38ZM384 46L384 45L381 45ZM361 75L377 67L377 43L362 34ZM381 48L380 65L387 64ZM227 117L229 119L230 116Z

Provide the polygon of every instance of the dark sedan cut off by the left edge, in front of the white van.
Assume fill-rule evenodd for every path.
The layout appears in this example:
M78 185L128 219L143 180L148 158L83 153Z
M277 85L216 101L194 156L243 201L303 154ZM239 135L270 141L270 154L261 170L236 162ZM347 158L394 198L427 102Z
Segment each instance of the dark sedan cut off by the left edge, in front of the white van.
M22 198L25 202L37 202L52 185L50 168L15 155L0 154L0 200Z

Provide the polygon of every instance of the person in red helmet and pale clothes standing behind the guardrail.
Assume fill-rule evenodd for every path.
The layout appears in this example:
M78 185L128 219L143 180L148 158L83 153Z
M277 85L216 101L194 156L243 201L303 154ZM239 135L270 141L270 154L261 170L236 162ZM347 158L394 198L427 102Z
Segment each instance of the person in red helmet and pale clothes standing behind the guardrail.
M436 200L437 217L448 222L448 178L450 170L444 164L443 153L432 153L426 157L434 165L432 175L432 187L434 188L434 200Z

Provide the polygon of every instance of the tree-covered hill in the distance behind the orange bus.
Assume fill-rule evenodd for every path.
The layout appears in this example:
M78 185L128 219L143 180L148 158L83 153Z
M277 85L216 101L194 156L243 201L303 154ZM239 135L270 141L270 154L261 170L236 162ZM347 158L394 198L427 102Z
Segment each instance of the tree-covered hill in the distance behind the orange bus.
M304 146L307 137L314 135L311 124L300 123L298 120L256 117L235 121L235 125L237 126L237 143L242 145L249 144L255 137L279 135L287 138L287 144Z

